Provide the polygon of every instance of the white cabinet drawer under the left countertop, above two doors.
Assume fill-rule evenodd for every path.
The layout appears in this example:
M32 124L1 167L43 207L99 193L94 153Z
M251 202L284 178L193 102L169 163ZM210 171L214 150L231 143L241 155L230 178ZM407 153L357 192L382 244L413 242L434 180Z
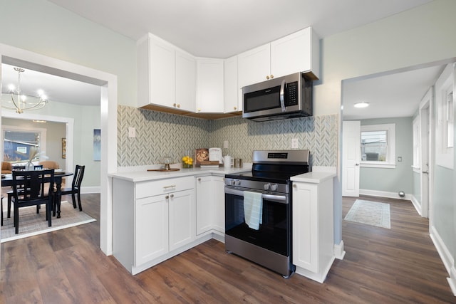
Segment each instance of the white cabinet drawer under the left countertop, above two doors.
M194 177L160 179L157 181L136 183L136 199L195 188Z

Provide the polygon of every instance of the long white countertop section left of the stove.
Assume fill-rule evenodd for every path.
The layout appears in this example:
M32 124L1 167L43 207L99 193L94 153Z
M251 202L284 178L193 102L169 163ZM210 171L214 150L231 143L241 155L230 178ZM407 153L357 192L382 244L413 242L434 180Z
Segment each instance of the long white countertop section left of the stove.
M180 168L179 171L160 172L160 171L147 171L147 169L156 168L143 168L131 169L131 171L110 173L108 177L117 179L125 179L130 182L145 182L157 179L170 179L177 177L188 177L188 176L204 176L204 175L220 175L233 174L240 172L249 172L252 170L252 164L244 164L242 168L230 168L225 169L224 167L219 168Z

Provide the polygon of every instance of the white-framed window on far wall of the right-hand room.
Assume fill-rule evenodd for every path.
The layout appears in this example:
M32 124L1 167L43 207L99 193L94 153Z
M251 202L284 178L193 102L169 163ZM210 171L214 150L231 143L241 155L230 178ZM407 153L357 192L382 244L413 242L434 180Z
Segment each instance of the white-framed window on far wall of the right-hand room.
M361 125L361 167L395 167L395 124Z

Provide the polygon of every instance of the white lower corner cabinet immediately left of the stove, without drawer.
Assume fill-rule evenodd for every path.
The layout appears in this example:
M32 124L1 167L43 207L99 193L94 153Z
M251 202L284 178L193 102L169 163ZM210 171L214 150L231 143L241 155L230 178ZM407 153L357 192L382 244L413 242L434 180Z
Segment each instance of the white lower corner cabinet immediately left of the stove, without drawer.
M215 229L224 233L224 177L196 178L197 235Z

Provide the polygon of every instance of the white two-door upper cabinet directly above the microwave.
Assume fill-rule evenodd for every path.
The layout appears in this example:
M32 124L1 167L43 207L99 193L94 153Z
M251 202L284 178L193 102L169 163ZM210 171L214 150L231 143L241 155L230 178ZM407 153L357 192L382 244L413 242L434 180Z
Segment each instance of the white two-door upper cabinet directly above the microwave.
M312 28L238 55L239 88L296 72L319 77L319 38Z

